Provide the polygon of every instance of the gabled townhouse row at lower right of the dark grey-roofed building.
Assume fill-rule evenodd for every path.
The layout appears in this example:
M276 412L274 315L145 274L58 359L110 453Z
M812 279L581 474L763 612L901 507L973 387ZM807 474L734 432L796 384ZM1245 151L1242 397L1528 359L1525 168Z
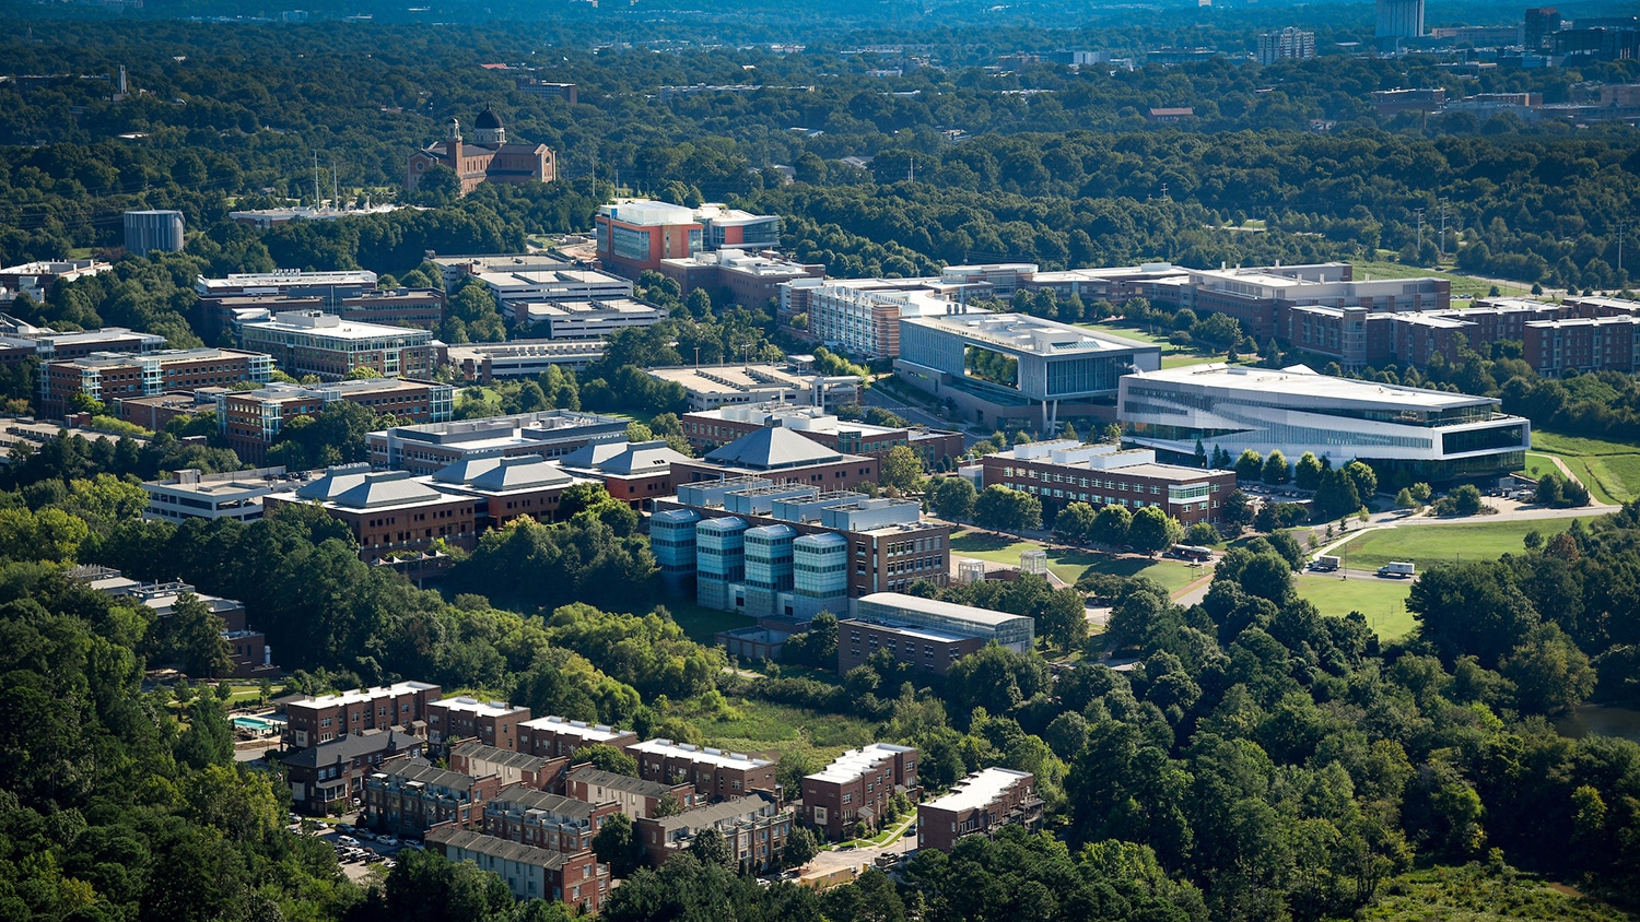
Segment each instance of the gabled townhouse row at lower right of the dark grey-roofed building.
M502 789L500 778L474 778L418 758L384 760L364 778L359 824L377 832L420 838L440 824L477 829L484 804Z

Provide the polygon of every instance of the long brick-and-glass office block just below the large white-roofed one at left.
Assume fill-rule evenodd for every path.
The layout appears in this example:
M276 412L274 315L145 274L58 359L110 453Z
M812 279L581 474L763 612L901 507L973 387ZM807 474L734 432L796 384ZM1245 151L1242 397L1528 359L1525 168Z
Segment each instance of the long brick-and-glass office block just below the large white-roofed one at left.
M218 391L216 431L239 459L261 463L285 423L297 416L318 416L336 401L356 403L377 416L418 424L449 421L454 395L449 385L412 378L367 378L328 385L276 382L253 391Z

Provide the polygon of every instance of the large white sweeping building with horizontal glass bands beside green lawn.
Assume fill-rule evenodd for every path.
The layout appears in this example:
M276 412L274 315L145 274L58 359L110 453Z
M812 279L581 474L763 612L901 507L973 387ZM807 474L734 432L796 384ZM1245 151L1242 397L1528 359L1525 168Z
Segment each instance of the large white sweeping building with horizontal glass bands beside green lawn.
M1397 473L1446 481L1520 470L1532 424L1501 401L1319 375L1304 365L1189 365L1122 378L1117 416L1125 441L1176 457L1223 449L1304 452L1333 465L1371 463L1387 486Z

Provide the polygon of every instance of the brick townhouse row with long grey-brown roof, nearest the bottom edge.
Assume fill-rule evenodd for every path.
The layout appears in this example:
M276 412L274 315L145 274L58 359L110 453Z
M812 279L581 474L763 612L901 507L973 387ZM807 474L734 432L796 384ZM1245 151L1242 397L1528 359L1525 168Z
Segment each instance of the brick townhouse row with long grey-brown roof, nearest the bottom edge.
M576 912L597 914L608 896L608 865L599 865L592 852L548 852L458 825L430 830L426 847L451 861L472 861L479 870L494 871L518 899L551 899Z

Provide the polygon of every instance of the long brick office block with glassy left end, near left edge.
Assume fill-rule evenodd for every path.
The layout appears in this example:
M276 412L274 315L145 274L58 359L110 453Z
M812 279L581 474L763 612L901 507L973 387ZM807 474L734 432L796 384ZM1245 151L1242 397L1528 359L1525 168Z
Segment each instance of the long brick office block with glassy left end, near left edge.
M92 352L57 359L39 367L41 416L59 418L75 395L112 405L130 396L154 396L175 390L266 383L274 372L262 352L238 349L162 349L156 352Z

